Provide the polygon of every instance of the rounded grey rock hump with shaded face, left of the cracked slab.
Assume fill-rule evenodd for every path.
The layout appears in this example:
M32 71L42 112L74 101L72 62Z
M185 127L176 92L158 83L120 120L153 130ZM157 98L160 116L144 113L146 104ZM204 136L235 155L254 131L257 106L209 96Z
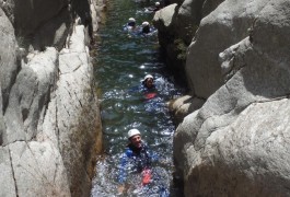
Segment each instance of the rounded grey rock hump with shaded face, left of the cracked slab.
M45 116L50 91L57 80L57 59L56 49L48 48L23 65L9 95L3 144L19 140L30 141L36 137L38 124Z

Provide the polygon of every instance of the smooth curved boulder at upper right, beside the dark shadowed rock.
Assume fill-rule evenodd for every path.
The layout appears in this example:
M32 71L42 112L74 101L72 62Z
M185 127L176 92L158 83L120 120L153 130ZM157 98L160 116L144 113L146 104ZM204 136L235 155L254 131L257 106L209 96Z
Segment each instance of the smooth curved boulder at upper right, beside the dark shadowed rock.
M248 36L247 30L266 4L265 0L228 0L201 20L185 67L195 95L207 99L223 84L219 53Z

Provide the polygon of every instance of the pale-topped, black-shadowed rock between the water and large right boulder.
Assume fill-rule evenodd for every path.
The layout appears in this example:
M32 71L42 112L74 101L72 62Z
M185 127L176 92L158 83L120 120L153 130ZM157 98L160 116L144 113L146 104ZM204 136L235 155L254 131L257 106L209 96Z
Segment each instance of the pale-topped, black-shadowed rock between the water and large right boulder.
M223 0L184 0L172 3L153 18L159 30L159 43L166 65L175 71L176 79L186 76L186 54L200 20L214 10ZM194 94L194 93L193 93Z

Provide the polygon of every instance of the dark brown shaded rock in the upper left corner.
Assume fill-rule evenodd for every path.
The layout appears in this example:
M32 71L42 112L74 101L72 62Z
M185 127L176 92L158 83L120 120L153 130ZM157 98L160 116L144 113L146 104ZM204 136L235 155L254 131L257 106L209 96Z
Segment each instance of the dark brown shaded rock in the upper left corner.
M31 51L63 47L72 25L67 0L5 0L0 7L13 24L20 47Z

